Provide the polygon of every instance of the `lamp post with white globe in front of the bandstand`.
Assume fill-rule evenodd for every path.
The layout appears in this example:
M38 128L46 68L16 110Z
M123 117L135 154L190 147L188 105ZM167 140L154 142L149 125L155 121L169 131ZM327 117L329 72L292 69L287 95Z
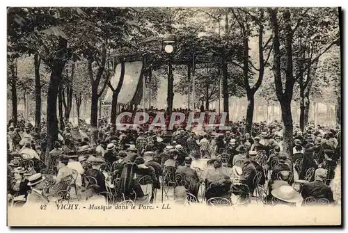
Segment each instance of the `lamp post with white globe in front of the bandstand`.
M167 107L168 115L171 117L173 110L173 67L172 67L172 53L175 47L175 35L172 33L167 33L163 39L164 51L168 54L167 64L168 64L168 91L167 91Z

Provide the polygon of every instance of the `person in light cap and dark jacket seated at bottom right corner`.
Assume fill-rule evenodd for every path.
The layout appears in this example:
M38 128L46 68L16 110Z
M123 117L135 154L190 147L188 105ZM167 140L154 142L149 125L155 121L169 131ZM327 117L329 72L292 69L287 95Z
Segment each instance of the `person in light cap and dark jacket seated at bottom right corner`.
M315 170L315 180L314 182L305 183L302 186L302 198L303 204L306 201L306 198L312 197L316 200L320 198L325 198L329 200L330 203L333 203L333 192L329 186L324 184L324 180L327 177L327 170L323 168L318 168Z

